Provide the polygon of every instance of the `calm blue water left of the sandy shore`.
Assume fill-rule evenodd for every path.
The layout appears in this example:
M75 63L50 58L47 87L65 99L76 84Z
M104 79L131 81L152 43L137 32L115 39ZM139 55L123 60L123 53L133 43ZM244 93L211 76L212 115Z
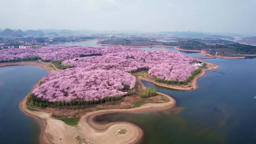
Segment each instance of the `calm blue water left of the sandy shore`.
M0 67L0 143L38 144L40 126L19 102L48 71L36 66Z

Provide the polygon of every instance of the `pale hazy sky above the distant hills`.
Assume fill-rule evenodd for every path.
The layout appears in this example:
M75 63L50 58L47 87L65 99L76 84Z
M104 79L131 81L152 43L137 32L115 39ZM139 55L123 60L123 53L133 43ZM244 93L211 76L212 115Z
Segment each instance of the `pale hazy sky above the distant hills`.
M256 34L256 0L0 0L0 29Z

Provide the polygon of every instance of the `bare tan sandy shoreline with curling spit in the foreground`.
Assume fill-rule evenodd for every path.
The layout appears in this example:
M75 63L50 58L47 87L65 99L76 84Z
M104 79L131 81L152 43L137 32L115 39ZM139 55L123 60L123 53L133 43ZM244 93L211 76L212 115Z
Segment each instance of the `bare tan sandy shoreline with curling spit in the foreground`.
M77 141L75 140L77 136L85 138L86 142L88 143L94 144L139 144L143 138L143 131L133 123L113 122L103 125L95 123L93 118L102 114L117 112L135 113L146 110L166 110L176 106L176 101L171 96L162 93L158 94L166 96L170 99L170 101L160 104L147 103L141 107L130 109L107 109L92 111L82 115L77 126L68 126L64 122L52 118L52 113L45 110L28 110L27 107L29 106L26 105L27 97L21 101L19 107L24 113L32 115L33 117L39 117L41 119L40 142L42 144L77 144ZM116 135L116 132L120 129L127 129L127 134Z

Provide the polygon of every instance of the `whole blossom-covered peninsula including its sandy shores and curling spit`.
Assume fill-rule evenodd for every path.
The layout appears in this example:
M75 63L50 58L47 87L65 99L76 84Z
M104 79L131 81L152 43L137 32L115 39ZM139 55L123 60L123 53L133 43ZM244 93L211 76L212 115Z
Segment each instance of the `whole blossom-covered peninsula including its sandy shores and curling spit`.
M108 113L173 108L175 99L145 87L141 80L193 90L206 70L218 68L182 53L129 47L4 49L0 58L0 66L37 65L50 71L19 105L39 119L44 144L140 143L143 130L135 124L99 124L94 119Z

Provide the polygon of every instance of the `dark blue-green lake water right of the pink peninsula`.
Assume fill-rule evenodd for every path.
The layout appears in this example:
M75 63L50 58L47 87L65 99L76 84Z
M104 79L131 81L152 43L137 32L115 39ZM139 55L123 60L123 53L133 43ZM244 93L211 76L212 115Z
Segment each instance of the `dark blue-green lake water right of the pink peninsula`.
M198 80L199 88L177 91L143 83L173 96L172 110L103 116L102 123L129 121L145 132L142 144L255 144L256 59L204 59L220 65Z

